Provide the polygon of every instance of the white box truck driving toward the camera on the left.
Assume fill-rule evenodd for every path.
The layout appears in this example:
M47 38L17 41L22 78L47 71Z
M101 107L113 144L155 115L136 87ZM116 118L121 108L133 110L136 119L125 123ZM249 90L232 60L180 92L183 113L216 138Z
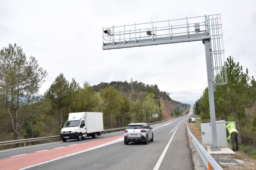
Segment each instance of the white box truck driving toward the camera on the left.
M61 129L61 139L82 140L85 137L97 137L103 132L103 113L78 112L69 113L69 118Z

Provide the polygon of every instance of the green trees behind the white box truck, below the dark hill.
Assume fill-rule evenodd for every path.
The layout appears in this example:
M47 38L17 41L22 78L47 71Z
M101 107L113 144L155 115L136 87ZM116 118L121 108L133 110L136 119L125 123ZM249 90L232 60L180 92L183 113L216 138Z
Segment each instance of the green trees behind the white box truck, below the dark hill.
M160 114L158 103L154 99L156 94L139 92L141 98L132 100L129 93L124 93L124 88L119 92L116 88L120 86L115 88L111 84L126 82L101 83L94 87L84 83L80 87L74 79L69 83L62 73L57 76L45 92L45 100L49 101L51 113L59 120L59 129L66 121L68 113L79 111L103 112L105 129L124 127L130 121L155 121L151 114Z

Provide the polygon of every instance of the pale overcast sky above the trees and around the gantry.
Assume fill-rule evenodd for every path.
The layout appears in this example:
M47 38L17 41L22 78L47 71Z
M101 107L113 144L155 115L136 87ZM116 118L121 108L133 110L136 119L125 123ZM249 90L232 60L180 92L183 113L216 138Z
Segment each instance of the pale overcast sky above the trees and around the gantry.
M80 86L133 81L157 84L171 99L195 103L207 87L202 41L103 51L102 28L221 14L225 58L256 76L256 1L0 0L0 49L16 43L48 76Z

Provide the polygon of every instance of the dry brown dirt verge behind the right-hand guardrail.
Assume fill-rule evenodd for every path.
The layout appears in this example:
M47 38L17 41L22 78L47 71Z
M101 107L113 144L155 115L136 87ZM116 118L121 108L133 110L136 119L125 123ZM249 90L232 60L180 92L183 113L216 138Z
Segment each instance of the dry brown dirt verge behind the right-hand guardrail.
M201 131L200 127L198 127L198 124L195 123L188 123L188 126L190 128L190 131L194 134L194 136L200 140L202 140L201 137ZM231 147L230 147L231 148ZM256 170L256 159L253 158L250 155L247 155L244 151L239 150L236 152L236 154L221 154L221 155L211 155L213 158L220 158L220 159L234 159L234 160L242 160L244 163L238 163L238 164L221 164L221 167L226 169L255 169Z

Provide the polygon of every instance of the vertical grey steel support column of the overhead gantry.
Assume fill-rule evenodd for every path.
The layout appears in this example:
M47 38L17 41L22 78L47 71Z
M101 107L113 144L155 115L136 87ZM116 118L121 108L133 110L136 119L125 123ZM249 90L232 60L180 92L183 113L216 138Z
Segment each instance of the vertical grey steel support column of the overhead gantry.
M207 62L207 80L208 80L208 95L209 95L209 105L210 105L210 116L211 116L211 140L213 144L211 145L211 150L218 151L217 131L216 131L216 118L215 118L215 103L213 94L213 70L211 63L211 53L210 53L210 39L203 39L203 44L205 44L205 57Z

